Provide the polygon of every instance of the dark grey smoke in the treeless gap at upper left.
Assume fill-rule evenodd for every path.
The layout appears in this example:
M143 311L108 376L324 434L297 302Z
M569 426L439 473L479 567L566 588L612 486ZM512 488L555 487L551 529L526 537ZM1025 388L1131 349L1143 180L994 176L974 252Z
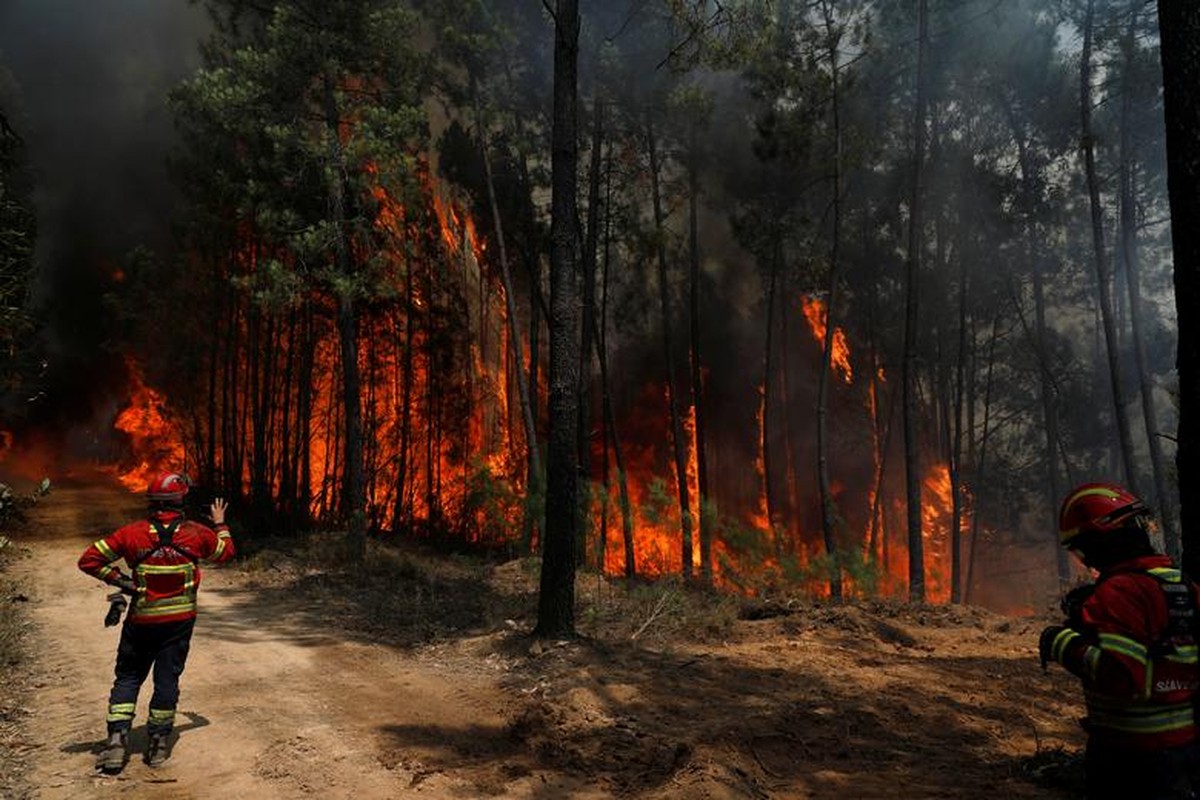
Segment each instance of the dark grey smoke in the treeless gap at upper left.
M121 372L101 296L132 248L169 248L166 97L199 65L205 31L187 0L0 0L0 64L37 175L34 299L50 363L35 425L90 422Z

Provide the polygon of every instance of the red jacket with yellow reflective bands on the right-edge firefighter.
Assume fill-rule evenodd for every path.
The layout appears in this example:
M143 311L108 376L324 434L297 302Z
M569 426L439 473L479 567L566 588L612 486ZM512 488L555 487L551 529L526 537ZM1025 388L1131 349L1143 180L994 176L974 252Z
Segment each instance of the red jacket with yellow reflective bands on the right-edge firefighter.
M1172 631L1168 596L1180 595ZM1084 682L1090 735L1130 750L1195 739L1195 587L1165 555L1146 555L1100 575L1078 631L1060 634L1056 658Z

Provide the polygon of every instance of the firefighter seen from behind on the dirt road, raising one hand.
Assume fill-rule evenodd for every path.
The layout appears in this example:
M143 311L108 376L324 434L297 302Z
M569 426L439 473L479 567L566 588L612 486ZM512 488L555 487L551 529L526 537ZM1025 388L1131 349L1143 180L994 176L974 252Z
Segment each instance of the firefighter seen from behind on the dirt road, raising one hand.
M162 473L146 489L148 518L119 528L79 557L80 570L132 597L116 648L116 678L108 698L108 736L97 762L106 772L125 768L138 690L151 668L154 694L146 722L145 762L158 766L167 760L179 675L196 625L199 563L221 564L234 554L224 522L224 500L212 501L212 528L209 528L185 517L187 491L186 476ZM118 566L120 559L125 559L128 572Z

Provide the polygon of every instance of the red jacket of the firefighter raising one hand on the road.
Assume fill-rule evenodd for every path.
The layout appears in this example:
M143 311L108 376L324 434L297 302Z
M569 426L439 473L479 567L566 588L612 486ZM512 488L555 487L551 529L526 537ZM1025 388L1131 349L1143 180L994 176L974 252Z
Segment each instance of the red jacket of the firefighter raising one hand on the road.
M178 525L169 545L161 542L152 521L163 527ZM220 524L214 530L176 512L158 512L94 542L79 557L79 569L115 585L130 577L116 565L125 559L137 587L130 621L176 622L196 616L199 563L221 564L233 554L228 525Z

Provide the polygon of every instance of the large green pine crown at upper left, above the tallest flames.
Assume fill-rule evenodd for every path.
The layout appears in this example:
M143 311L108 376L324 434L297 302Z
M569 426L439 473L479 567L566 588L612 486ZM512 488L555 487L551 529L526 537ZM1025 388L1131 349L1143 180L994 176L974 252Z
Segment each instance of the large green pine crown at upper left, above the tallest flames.
M426 55L404 46L416 18L400 2L356 0L281 2L265 23L245 38L218 32L205 68L173 92L184 186L214 213L234 201L227 235L248 222L272 253L238 283L260 303L287 306L306 287L338 299L391 291L373 192L397 203L416 193L428 80ZM331 216L335 192L344 219ZM347 235L348 265L335 257Z

